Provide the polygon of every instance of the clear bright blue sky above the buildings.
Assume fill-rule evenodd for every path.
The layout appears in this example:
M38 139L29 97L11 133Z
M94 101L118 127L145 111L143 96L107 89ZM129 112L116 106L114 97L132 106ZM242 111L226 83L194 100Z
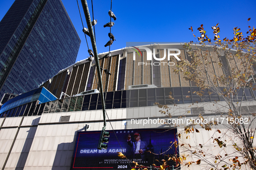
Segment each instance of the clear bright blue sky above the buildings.
M14 0L0 1L0 19L6 14ZM89 54L82 32L82 24L76 0L62 0L68 15L73 22L81 45L76 61L86 59ZM91 0L88 6L92 19ZM109 27L103 25L110 22L108 10L111 0L93 0L96 43L98 53L107 52L109 47L104 45L109 41ZM85 17L78 0L85 24ZM256 0L222 0L222 1L164 1L164 0L113 0L112 11L117 16L111 32L117 39L110 50L126 47L126 42L185 42L195 41L188 28L193 27L196 36L199 36L197 28L201 24L207 31L209 38L213 37L211 26L219 23L220 38L233 37L233 28L241 28L243 35L248 31L247 19L251 18L249 25L256 26ZM113 21L113 19L112 19ZM89 48L90 38L87 37ZM150 43L146 43L150 44Z

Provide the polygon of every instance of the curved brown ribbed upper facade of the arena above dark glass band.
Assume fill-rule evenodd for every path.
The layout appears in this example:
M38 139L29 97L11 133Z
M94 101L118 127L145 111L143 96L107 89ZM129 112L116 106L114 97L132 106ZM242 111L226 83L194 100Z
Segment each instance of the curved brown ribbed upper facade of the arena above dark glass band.
M110 58L103 58L107 53L99 54L100 67L110 70L111 73L111 75L107 75L104 72L102 74L104 92L130 90L133 88L195 87L193 82L183 79L183 75L173 72L178 60L172 54L180 53L178 57L181 59L189 60L190 58L182 46L183 44L181 43L138 46L141 53L137 53L133 50L133 47L126 47L111 51L112 56ZM147 51L143 49L145 47L152 52L153 57L151 57L151 60L147 58ZM191 47L194 50L198 50L195 45ZM154 49L155 53L153 52ZM175 49L179 51L175 51ZM217 57L213 51L207 50L207 48L203 49L202 53L208 53L208 55L212 56L212 65L209 72L227 74L227 67L237 66L238 61L234 58L233 60L228 60L225 57ZM233 51L234 53L235 51ZM231 51L230 55L233 54ZM161 60L155 60L154 55ZM220 67L218 62L224 63L223 66ZM73 96L83 91L99 89L95 63L91 64L87 60L77 62L58 72L42 86L58 98L62 92L68 96Z

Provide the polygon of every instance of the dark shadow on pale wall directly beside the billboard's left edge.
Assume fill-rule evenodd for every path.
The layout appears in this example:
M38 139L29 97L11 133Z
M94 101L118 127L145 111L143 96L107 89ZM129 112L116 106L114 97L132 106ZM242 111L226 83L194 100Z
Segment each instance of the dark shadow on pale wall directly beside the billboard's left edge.
M84 129L85 127L75 131L73 142L58 144L52 170L70 170L77 132L83 131Z

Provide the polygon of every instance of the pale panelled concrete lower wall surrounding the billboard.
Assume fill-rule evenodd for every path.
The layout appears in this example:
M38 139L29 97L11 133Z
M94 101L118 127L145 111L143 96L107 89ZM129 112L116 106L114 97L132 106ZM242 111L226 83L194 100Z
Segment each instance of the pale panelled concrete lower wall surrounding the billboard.
M175 115L174 117L180 115L195 116L188 113L191 107L194 106L183 104L179 107L172 107L170 112ZM218 106L213 106L212 103L201 103L197 107L204 107L205 113L207 113L207 110L216 109ZM169 125L162 124L147 124L145 126L135 124L131 126L126 123L126 117L128 120L148 117L167 118L159 110L161 109L157 106L113 109L107 110L107 115L111 120L113 129L169 127ZM70 116L69 122L60 122L61 116ZM3 167L7 155L10 153L6 161L5 170L69 170L77 132L84 130L86 124L90 126L87 131L101 130L103 116L102 110L47 113L42 114L42 116L26 116L24 118L1 118L0 125L2 123L3 126L0 129L0 168ZM110 123L107 121L107 130L111 129ZM182 130L178 128L178 132ZM221 134L216 132L216 129L211 131L198 130L200 131L199 133L181 134L180 144L184 143L185 145L179 147L180 156L191 155L191 151L188 151L190 149L188 144L190 144L191 148L199 148L199 144L203 145L202 150L207 150L206 157L208 158L218 154L229 154L230 151L233 151L233 143L231 141L233 139L230 138L232 135L227 133L225 138L222 136L222 141L227 140L227 147L224 150L214 147L216 143L213 143L211 139L218 138L225 132L225 129L221 129ZM188 135L189 137L186 139ZM237 142L239 143L239 141ZM198 157L194 156L187 158L187 161L197 160ZM189 169L201 170L209 167L209 163L213 163L213 161L213 158L209 158L208 163L201 162L201 166L191 165ZM182 167L181 169L186 170L188 168Z

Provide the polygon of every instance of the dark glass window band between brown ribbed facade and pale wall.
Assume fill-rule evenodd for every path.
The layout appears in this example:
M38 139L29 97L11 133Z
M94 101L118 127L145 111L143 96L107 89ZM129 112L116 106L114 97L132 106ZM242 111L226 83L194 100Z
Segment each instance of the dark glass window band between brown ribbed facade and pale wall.
M43 88L45 89L45 88ZM188 104L201 102L224 101L223 98L215 94L208 94L208 89L204 91L204 96L200 97L193 94L192 91L200 91L198 87L174 87L174 88L141 88L134 90L110 91L104 93L106 109L119 109L129 107L148 107L159 104ZM46 89L45 89L46 91ZM49 92L49 91L48 91ZM175 100L169 98L170 92ZM251 88L245 89L243 96L242 89L237 96L234 96L234 101L255 101L256 91ZM17 97L16 97L17 98ZM13 98L14 99L14 98ZM40 98L39 98L39 101ZM20 106L13 106L9 110L0 112L0 118L6 115L7 117L14 116L40 116L42 113L55 112L73 112L86 110L102 110L100 94L88 94L71 98L58 99L48 101L42 104L36 104L36 101L30 101ZM253 110L255 112L255 110ZM253 112L253 113L254 113Z

